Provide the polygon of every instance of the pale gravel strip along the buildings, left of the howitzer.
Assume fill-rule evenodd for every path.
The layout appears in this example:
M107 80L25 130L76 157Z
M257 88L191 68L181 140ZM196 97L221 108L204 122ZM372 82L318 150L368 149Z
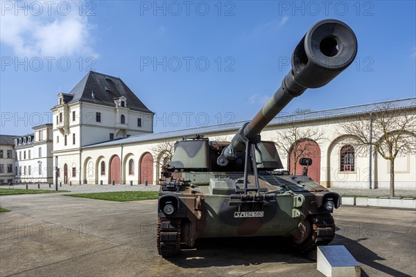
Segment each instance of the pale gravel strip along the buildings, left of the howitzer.
M0 188L21 188L26 189L26 185L0 186ZM28 189L37 190L37 184L28 185ZM41 190L55 190L55 184L49 188L48 184L40 184ZM59 190L69 190L69 193L108 193L113 191L158 191L159 186L155 185L62 185L58 186Z

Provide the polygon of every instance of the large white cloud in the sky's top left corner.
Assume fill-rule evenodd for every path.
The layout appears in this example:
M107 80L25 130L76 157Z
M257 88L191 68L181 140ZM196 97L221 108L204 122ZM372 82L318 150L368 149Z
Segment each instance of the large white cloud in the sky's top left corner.
M88 23L88 17L79 15L75 6L79 3L71 3L73 6L68 14L66 11L59 14L57 6L50 9L42 7L40 15L37 15L38 9L30 10L30 5L26 6L26 11L2 10L0 42L10 46L20 57L66 57L75 54L96 57L97 54L89 46L92 42L90 30L94 26Z

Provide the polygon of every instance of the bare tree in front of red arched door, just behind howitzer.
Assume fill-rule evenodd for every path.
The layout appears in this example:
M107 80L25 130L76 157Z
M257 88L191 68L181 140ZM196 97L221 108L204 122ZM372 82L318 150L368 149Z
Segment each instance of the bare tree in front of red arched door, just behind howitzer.
M277 149L287 154L293 163L292 175L296 174L297 161L302 157L311 157L316 153L315 145L326 139L324 132L318 127L302 127L299 124L291 123L288 128L276 130L273 138ZM289 164L288 170L291 165Z

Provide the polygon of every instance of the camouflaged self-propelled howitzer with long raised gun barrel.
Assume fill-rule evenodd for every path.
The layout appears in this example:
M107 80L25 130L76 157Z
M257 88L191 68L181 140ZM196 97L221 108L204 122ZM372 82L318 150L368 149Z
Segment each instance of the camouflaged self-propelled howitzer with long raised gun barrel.
M175 143L163 167L158 200L157 249L176 256L181 244L198 238L282 236L300 251L328 244L335 235L333 208L340 195L307 176L280 170L275 144L260 133L293 98L322 87L354 61L357 41L349 26L335 19L314 24L296 46L292 70L281 87L231 142L203 136Z

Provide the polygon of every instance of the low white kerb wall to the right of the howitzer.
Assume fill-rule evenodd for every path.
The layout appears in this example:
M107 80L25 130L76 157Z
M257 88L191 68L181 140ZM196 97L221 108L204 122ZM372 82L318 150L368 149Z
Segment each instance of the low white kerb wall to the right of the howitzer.
M341 197L341 204L352 206L416 209L416 199L406 197Z

